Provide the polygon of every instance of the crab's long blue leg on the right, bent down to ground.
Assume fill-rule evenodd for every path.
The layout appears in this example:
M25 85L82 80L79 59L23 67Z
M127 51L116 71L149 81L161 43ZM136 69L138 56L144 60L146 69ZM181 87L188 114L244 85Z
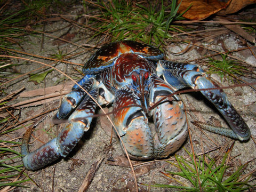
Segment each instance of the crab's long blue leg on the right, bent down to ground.
M158 73L164 76L164 79L171 84L175 89L190 86L193 89L209 89L219 87L212 82L204 71L196 65L175 63L171 61L159 61ZM220 111L235 134L226 135L241 141L250 138L250 129L244 122L243 118L237 113L236 109L229 102L227 95L221 89L201 91L201 93L213 103L213 105ZM220 133L218 129L213 132ZM223 130L225 132L225 130ZM222 131L222 132L223 132Z

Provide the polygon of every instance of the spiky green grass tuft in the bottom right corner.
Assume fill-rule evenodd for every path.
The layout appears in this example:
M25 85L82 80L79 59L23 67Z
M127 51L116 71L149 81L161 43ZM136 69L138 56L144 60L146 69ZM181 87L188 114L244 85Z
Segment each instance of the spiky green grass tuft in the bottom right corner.
M186 149L185 149L186 150ZM174 185L164 185L156 184L154 187L163 187L163 188L175 188L180 189L181 191L244 191L249 189L250 186L248 181L251 178L251 175L247 176L244 181L239 181L242 176L242 173L249 163L245 163L242 166L237 167L234 171L230 170L230 167L227 166L227 157L230 153L227 152L222 158L220 164L217 164L217 160L210 158L209 156L197 156L197 161L193 159L193 154L190 154L186 150L190 159L187 160L182 156L175 155L177 163L170 164L177 167L179 172L166 171L164 173L166 177L178 183L177 186ZM207 158L205 161L204 158ZM207 163L209 161L209 163ZM198 175L197 175L198 171ZM183 179L186 180L184 182ZM200 183L198 182L200 181Z

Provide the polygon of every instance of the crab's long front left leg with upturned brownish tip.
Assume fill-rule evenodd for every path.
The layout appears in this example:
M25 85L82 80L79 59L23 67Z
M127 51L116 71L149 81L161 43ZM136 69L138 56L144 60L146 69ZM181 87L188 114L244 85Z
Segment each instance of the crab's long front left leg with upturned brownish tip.
M97 100L99 89L89 92L93 99ZM63 128L57 138L45 143L37 150L29 153L28 141L30 134L25 134L22 145L21 154L23 164L27 170L38 170L58 159L60 156L66 157L70 151L76 146L77 142L82 138L83 133L90 127L92 115L96 108L96 103L89 95L86 95L82 102L78 105L72 115L69 116L69 124Z

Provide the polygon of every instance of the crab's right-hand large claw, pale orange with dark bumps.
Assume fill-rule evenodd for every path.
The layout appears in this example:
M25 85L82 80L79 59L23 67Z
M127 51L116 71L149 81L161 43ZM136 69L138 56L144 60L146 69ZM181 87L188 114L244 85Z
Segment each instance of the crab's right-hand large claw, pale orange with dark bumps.
M149 106L162 100L174 90L162 79L151 76ZM187 122L183 111L183 103L177 97L173 100L163 100L153 109L155 123L155 158L167 157L177 151L187 138Z

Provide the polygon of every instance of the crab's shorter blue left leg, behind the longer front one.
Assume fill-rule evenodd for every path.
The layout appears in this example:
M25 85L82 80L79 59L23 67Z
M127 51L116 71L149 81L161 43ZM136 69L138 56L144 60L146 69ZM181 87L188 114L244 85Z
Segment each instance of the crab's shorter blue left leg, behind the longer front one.
M78 84L81 85L85 91L89 91L94 82L94 77L91 75L86 75L78 82ZM83 89L75 84L72 88L72 91L63 97L59 111L52 118L53 124L62 123L60 119L65 119L68 117L70 112L76 108L78 103L84 98L84 95L86 94Z

